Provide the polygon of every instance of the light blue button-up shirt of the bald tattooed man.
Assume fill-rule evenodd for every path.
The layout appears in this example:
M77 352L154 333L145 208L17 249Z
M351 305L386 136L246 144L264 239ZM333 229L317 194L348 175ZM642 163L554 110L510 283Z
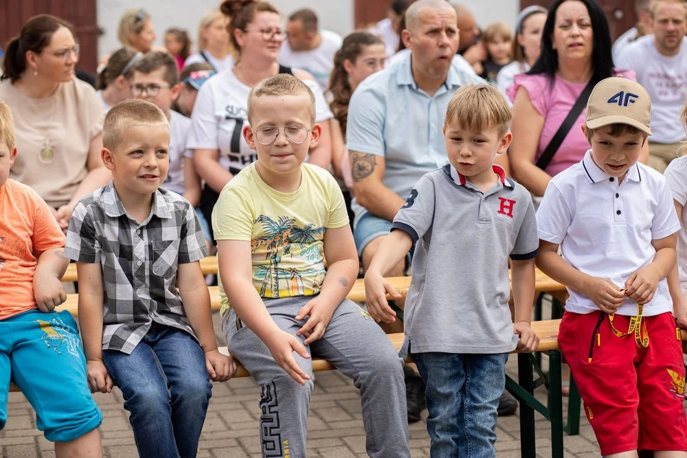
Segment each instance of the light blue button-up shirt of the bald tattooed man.
M403 198L425 173L448 163L442 126L453 93L465 84L484 83L452 65L430 97L413 78L411 57L361 82L348 105L346 128L348 150L383 156L383 184ZM352 209L356 221L367 213L355 200Z

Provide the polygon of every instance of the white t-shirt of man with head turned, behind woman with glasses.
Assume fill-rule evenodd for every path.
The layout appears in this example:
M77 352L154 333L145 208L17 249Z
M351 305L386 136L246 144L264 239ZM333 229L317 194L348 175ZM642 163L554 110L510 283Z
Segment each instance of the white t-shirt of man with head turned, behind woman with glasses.
M313 78L326 91L329 86L329 74L334 68L334 54L341 47L341 36L329 30L320 30L322 43L310 51L292 51L289 42L284 41L282 50L277 58L281 65L302 69L310 73Z

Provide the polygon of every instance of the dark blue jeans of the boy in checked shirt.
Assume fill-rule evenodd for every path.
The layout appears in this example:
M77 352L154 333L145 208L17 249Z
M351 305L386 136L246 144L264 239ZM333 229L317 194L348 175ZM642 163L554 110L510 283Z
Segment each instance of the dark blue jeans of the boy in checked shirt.
M131 354L104 350L102 360L122 389L141 458L195 457L212 396L198 341L153 323Z

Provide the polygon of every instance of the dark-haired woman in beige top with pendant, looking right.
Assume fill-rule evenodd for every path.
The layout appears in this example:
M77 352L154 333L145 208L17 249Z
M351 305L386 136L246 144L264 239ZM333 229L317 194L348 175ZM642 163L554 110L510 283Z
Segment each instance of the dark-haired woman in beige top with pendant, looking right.
M78 59L71 24L40 14L8 43L0 78L16 128L10 178L32 187L63 231L78 200L111 179L100 161L102 106L74 76Z

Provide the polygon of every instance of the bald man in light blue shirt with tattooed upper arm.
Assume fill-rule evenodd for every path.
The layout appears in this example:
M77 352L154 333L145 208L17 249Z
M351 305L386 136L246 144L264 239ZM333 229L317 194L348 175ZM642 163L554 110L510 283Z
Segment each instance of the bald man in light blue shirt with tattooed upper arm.
M364 80L348 106L354 238L363 268L389 234L415 183L448 162L442 126L453 93L465 84L484 82L451 66L459 32L450 3L418 0L408 7L405 21L401 39L409 54ZM404 271L402 262L387 275ZM416 422L424 408L424 383L412 372L406 383L408 421Z

